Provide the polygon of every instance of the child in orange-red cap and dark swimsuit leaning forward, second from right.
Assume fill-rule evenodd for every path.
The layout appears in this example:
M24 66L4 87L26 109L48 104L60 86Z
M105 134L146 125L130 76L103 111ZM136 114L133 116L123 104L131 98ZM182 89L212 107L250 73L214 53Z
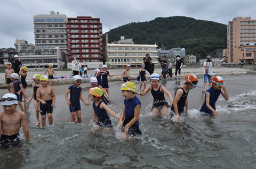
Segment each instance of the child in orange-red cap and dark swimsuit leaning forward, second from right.
M171 117L175 115L178 120L180 120L181 115L188 114L188 92L194 89L198 83L197 77L194 74L188 74L184 79L186 82L175 91L171 107ZM186 111L184 111L184 106Z

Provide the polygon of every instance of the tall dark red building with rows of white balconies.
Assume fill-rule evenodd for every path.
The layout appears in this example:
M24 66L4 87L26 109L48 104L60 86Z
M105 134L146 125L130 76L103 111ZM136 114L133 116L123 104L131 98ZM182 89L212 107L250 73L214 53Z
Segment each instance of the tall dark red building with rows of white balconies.
M99 18L68 18L68 52L69 62L74 57L80 62L102 61L102 24Z

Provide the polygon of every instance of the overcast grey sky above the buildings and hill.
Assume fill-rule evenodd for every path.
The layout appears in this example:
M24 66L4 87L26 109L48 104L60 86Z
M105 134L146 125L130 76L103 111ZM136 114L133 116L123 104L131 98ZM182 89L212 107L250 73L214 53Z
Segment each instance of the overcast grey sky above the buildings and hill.
M236 16L256 20L256 1L241 0L22 0L1 1L0 48L13 47L15 39L35 44L33 17L66 14L67 18L92 16L100 18L103 33L131 22L144 22L157 17L187 16L228 24Z

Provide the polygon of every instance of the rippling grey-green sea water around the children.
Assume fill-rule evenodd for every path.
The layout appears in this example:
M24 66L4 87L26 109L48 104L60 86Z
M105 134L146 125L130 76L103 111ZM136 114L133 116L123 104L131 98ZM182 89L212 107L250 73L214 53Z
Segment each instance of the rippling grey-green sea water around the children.
M81 102L82 123L69 123L71 116L64 97L68 86L56 86L53 125L45 128L35 126L34 104L25 104L31 143L25 141L21 129L24 145L0 150L0 167L256 168L255 77L223 79L229 100L220 95L217 102L219 116L202 115L198 111L204 102L202 79L199 79L197 88L189 91L189 115L179 122L174 122L170 116L161 120L153 117L150 91L145 96L138 96L142 104L139 117L142 135L125 141L120 139L118 121L111 115L113 128L110 133L90 132L93 127L91 101L90 106ZM159 84L174 97L175 90L184 81L165 80ZM109 108L118 115L121 115L124 105L121 83L112 82L109 89ZM140 83L135 84L139 86ZM85 99L88 92L88 88L83 87ZM166 95L165 98L169 100Z

